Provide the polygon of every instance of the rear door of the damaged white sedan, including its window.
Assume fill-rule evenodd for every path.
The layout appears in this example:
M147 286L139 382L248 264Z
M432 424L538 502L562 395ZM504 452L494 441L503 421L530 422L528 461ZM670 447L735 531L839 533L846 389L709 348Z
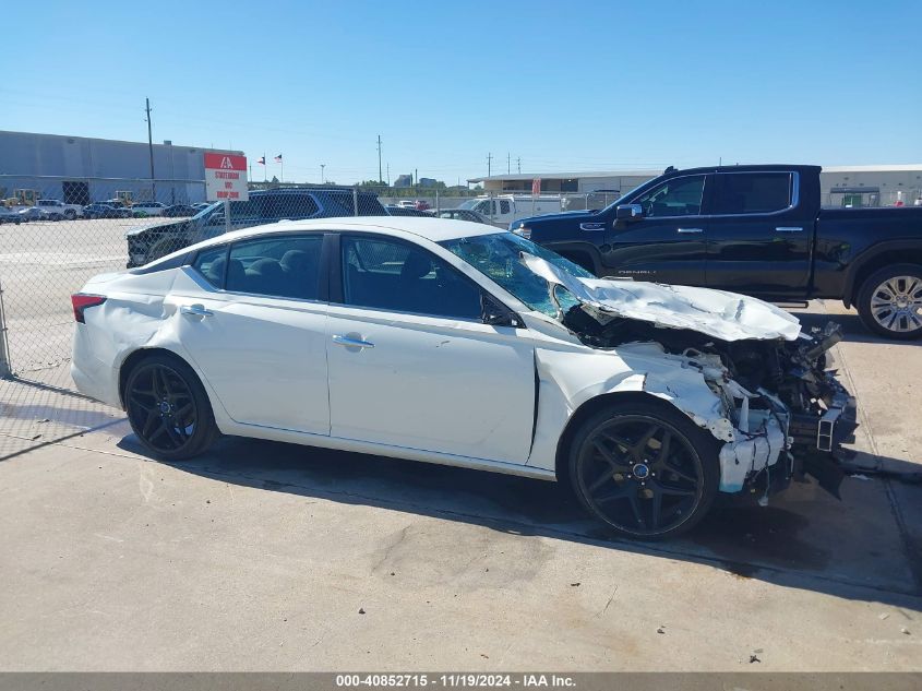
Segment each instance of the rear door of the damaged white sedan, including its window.
M237 422L330 433L323 235L203 250L173 285L181 344Z

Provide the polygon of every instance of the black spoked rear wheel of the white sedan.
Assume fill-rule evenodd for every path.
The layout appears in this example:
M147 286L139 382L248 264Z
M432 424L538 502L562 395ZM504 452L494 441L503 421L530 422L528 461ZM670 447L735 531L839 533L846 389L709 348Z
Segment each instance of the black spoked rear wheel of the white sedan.
M141 365L127 393L131 426L151 449L169 453L189 444L197 429L199 410L179 372L159 362Z

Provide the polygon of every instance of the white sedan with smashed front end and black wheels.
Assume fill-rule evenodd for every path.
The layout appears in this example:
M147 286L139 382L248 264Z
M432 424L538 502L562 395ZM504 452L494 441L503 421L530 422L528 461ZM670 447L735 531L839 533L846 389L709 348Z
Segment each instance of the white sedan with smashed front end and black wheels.
M597 279L465 222L250 228L97 276L73 308L74 381L158 457L223 433L565 480L634 537L835 473L855 427L836 326Z

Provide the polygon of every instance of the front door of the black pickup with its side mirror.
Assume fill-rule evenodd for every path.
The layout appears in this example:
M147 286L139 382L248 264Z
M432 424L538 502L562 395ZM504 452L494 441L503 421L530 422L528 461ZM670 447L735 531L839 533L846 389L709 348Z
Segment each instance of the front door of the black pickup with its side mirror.
M631 219L583 224L587 234L604 233L602 273L690 286L703 286L707 252L710 176L669 178L631 203L643 214Z

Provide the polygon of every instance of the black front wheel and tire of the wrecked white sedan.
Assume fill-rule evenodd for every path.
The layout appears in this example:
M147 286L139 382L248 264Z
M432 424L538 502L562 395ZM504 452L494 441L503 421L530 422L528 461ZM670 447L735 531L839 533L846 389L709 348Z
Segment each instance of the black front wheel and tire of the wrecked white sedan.
M585 420L570 449L573 490L615 533L663 539L694 527L720 484L719 442L679 410L611 405Z

